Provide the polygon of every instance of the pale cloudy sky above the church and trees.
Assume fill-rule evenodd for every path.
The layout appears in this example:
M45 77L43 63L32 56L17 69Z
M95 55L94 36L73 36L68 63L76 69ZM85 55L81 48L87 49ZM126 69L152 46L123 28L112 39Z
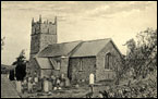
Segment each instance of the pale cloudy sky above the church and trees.
M157 28L157 1L1 1L1 63L11 65L25 49L29 59L32 18L58 17L58 42L112 38L125 54L126 40Z

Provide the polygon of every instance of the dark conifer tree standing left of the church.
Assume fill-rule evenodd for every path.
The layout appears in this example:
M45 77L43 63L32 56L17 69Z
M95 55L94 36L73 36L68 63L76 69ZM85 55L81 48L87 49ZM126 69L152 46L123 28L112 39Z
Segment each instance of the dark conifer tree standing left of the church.
M15 77L17 81L24 81L24 77L26 76L26 60L25 60L25 50L22 50L20 53L20 57L16 58L16 61L13 63L13 65L16 65L15 67Z

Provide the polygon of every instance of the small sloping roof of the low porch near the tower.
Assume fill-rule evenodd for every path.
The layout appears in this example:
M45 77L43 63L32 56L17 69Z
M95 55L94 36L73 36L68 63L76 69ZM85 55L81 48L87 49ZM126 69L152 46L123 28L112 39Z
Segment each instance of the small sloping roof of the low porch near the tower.
M48 58L35 58L40 69L52 69L52 65Z

